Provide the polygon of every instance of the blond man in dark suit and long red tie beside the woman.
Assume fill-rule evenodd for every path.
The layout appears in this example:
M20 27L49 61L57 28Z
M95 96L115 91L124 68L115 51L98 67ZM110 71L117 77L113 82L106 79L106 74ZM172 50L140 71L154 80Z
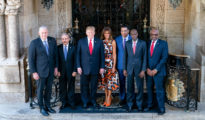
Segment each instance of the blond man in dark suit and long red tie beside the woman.
M98 74L99 72L103 74L105 67L104 45L102 40L94 37L95 27L88 26L86 35L87 37L78 41L77 47L77 70L81 75L80 89L83 108L87 108L89 99L94 107L98 106L95 100Z

